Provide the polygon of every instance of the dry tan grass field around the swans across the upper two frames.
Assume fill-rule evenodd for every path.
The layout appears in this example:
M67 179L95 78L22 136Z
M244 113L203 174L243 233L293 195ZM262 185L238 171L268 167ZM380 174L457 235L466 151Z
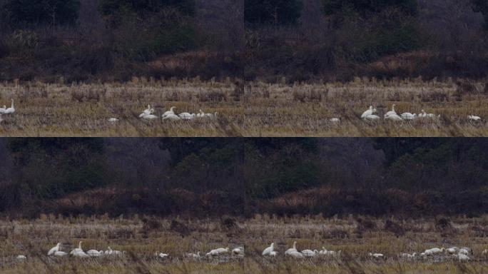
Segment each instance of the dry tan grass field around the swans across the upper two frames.
M4 115L0 136L488 136L488 88L484 82L380 81L267 84L236 88L233 81L154 81L65 85L0 84L0 105L14 98L16 113ZM141 121L151 103L161 116L218 112L216 119ZM396 104L397 113L441 115L414 121L360 120L368 106L377 115ZM468 115L482 121L469 121ZM119 118L110 123L108 118ZM340 118L333 123L330 118Z

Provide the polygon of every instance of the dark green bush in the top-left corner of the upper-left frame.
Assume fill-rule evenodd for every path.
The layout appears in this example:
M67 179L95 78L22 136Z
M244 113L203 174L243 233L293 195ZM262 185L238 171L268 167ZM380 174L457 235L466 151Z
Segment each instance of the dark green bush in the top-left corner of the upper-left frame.
M0 14L14 26L75 24L79 0L7 0Z

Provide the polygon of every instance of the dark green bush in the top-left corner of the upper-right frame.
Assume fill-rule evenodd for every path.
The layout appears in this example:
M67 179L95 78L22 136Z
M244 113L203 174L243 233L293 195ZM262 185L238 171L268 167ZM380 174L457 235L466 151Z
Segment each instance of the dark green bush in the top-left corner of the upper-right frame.
M297 24L302 9L301 0L245 0L244 21L251 25Z

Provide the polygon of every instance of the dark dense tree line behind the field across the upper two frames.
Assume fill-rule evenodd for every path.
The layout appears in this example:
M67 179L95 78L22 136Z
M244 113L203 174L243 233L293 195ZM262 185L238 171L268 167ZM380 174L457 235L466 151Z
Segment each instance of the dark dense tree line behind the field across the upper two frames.
M0 79L482 78L487 18L484 0L0 0ZM367 66L385 56L407 65Z

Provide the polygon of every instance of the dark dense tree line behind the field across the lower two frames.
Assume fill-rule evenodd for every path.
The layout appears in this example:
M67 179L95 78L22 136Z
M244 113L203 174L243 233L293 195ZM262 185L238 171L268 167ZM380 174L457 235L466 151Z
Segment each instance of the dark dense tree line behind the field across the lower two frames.
M0 145L0 211L27 216L437 215L488 206L484 139L13 138ZM303 198L307 206L294 204Z

